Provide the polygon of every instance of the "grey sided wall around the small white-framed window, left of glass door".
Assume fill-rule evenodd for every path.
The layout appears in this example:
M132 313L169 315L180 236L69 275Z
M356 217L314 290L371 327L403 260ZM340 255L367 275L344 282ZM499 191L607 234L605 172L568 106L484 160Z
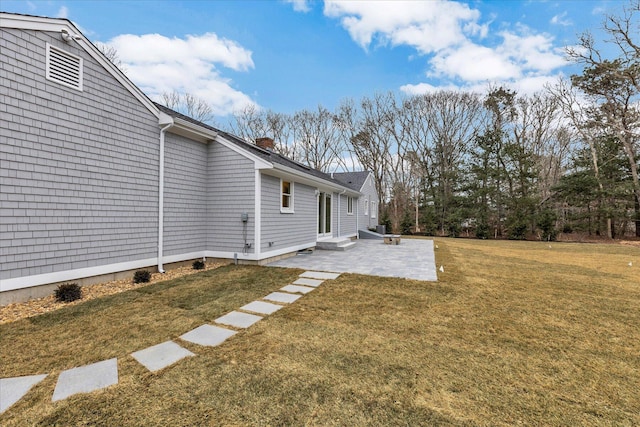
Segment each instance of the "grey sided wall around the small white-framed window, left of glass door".
M294 213L280 212L280 178L261 174L261 252L275 251L307 243L318 237L315 188L293 181ZM273 242L269 246L269 242Z

